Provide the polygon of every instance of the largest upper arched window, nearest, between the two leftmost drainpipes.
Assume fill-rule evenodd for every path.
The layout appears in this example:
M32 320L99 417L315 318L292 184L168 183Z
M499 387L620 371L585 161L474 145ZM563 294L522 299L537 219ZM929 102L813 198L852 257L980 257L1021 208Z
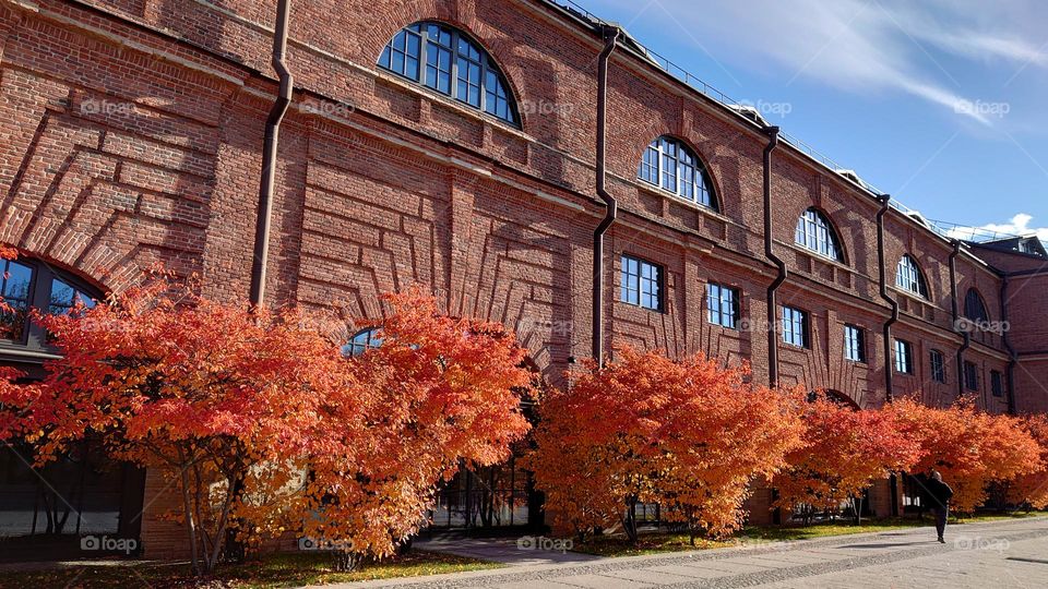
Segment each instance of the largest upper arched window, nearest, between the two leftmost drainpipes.
M465 33L434 22L405 26L382 50L379 67L520 127L505 77Z

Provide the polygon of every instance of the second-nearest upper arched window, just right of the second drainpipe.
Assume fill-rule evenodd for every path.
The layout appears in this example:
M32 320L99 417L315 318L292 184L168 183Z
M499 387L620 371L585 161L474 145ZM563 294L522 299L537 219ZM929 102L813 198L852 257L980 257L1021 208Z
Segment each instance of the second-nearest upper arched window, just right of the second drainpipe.
M666 136L653 141L644 149L636 176L686 201L717 209L710 173L699 156L680 141Z

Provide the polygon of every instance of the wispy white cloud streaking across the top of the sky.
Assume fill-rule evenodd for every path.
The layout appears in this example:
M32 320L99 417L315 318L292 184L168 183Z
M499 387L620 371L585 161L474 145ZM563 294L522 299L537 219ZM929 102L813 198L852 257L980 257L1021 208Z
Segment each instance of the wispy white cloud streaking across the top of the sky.
M1044 9L1028 0L999 0L992 10L976 0L653 2L663 9L667 34L684 45L716 38L731 48L726 59L772 64L790 82L807 77L855 93L904 92L985 125L990 118L963 105L995 97L965 97L933 55L1048 68L1048 46L1029 40L1043 35L1029 21Z

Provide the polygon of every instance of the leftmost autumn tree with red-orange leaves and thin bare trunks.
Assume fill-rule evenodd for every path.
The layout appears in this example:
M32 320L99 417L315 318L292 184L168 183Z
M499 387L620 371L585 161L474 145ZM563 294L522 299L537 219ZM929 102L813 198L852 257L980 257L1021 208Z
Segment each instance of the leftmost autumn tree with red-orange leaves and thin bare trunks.
M193 567L214 569L249 497L295 485L322 400L353 388L337 348L295 313L218 304L169 280L93 309L34 311L61 360L11 386L0 432L46 462L87 435L111 455L172 477ZM243 495L234 482L247 479Z

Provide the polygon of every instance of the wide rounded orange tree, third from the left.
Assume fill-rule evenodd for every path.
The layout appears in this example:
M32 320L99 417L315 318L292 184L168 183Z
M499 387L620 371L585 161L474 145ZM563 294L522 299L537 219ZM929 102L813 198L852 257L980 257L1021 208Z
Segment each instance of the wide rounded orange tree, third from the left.
M752 384L748 366L627 348L574 377L541 404L528 465L547 512L580 534L621 525L635 541L640 503L692 539L730 532L749 483L801 443L800 394Z

